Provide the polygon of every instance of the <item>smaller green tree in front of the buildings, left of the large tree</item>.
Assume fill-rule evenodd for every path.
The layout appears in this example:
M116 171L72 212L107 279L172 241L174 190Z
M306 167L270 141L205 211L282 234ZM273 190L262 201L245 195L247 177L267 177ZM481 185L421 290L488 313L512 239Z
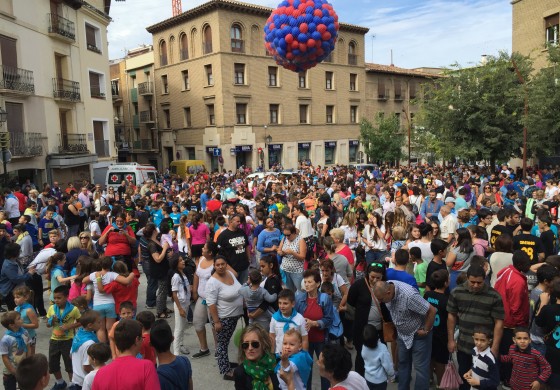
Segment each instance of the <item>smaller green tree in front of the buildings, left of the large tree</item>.
M360 123L360 142L370 161L400 161L404 136L396 115L378 115L375 125L367 119Z

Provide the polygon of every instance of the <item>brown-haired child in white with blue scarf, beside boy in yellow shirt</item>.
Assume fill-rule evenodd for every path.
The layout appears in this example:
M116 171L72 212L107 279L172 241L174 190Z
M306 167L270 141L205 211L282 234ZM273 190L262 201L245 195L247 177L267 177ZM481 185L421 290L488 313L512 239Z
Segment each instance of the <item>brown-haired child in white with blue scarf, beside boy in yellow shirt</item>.
M89 363L87 351L97 340L97 331L101 328L101 317L99 313L90 310L78 320L81 328L76 332L72 341L72 383L68 389L80 389L84 384L84 378L93 370Z

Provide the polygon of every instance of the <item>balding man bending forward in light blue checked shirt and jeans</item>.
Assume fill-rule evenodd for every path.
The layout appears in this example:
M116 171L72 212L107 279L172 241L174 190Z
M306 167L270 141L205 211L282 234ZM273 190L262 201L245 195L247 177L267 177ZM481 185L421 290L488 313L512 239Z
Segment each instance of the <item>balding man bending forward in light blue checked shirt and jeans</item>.
M413 360L416 371L414 389L428 389L436 309L417 289L403 282L377 282L374 294L379 302L385 303L397 328L399 390L410 389Z

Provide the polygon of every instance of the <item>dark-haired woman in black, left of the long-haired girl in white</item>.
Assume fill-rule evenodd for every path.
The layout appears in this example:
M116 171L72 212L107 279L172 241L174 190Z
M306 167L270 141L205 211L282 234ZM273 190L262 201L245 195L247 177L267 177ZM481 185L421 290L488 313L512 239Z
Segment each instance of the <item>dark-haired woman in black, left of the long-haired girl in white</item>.
M169 271L168 249L165 242L160 245L157 239L156 225L148 223L144 228L144 235L140 240L140 255L142 269L148 279L146 289L146 308L157 308L158 318L169 318L170 310L167 309L167 272Z

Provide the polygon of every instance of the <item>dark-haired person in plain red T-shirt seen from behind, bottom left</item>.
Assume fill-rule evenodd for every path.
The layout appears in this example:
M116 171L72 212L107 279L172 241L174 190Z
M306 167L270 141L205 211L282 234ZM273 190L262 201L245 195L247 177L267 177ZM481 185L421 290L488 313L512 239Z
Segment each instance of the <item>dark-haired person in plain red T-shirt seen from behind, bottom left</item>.
M142 346L142 325L123 319L115 328L117 358L101 367L95 375L92 390L159 390L159 379L152 362L138 359Z

